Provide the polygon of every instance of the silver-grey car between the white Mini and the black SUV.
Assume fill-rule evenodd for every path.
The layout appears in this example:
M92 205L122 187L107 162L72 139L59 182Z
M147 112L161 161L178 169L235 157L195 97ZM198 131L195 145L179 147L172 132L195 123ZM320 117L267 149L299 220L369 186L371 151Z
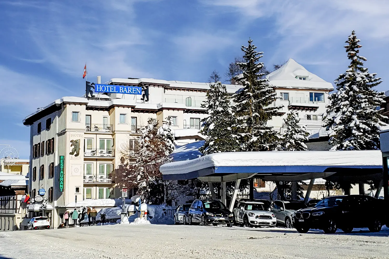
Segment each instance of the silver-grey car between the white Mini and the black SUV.
M270 204L270 211L277 217L277 222L284 224L287 228L292 227L292 214L298 209L306 208L307 206L302 201L290 200L282 201L275 200Z

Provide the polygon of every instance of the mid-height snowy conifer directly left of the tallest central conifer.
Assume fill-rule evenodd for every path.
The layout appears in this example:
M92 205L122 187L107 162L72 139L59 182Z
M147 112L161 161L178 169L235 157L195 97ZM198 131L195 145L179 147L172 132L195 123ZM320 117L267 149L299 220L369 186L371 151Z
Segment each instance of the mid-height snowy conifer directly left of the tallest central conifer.
M200 147L200 152L208 155L237 151L238 144L231 131L234 118L226 86L221 82L211 83L203 108L207 108L209 116L204 119L204 127L200 130L207 136L204 145Z

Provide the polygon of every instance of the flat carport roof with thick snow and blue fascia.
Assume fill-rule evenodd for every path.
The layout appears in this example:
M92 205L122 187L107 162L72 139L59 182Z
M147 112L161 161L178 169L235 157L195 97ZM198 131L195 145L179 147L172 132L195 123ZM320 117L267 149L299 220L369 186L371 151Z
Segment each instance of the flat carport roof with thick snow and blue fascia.
M230 152L166 163L159 169L164 180L242 173L284 176L346 169L382 170L382 157L379 150Z

